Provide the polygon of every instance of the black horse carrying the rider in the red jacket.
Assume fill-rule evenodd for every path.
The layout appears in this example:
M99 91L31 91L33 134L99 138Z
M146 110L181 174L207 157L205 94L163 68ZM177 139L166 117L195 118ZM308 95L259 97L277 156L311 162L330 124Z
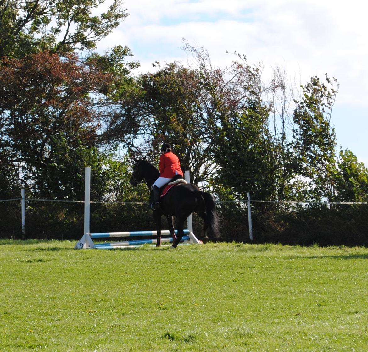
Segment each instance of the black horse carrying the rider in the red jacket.
M135 159L133 174L130 178L130 184L137 186L143 179L148 189L151 189L153 183L160 176L159 170L150 164L146 158ZM206 230L209 227L215 238L219 237L219 221L216 215L216 203L212 195L202 192L196 185L181 184L169 189L164 197L161 198L159 209L153 210L153 218L156 221L157 243L161 245L161 217L167 216L169 221L169 230L173 236L173 247L176 248L184 235L184 221L192 212L197 213L204 220L204 228L201 231L203 242L208 242ZM174 232L174 216L176 216L177 236Z

